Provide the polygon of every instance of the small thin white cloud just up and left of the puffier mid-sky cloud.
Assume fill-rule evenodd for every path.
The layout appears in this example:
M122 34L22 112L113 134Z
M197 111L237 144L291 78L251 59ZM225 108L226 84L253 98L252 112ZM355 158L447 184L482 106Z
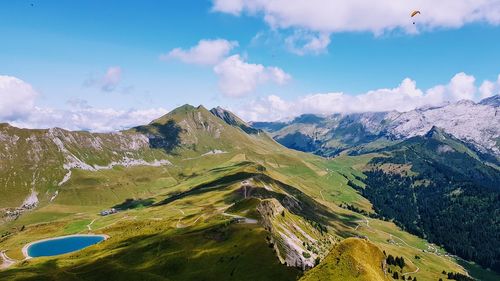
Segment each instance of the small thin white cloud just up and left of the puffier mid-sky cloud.
M189 64L215 65L236 46L238 42L225 39L200 40L196 46L188 50L175 48L168 54L161 55L160 59L178 59Z

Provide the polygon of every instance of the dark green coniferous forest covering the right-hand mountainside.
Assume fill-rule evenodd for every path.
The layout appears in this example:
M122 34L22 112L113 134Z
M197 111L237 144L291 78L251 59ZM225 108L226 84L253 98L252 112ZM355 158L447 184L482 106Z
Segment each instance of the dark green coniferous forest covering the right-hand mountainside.
M375 158L359 189L376 212L452 254L500 272L499 173L466 153L435 153L434 138L418 137ZM411 165L411 173L383 164ZM351 185L352 182L351 182Z

